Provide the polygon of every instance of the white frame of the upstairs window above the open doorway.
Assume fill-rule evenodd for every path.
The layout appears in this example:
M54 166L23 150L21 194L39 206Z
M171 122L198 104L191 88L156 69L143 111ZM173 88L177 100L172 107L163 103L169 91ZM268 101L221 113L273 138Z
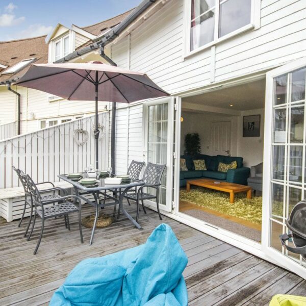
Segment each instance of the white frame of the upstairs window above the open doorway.
M214 32L214 40L202 45L194 50L190 50L190 40L191 40L191 1L192 0L184 0L184 54L183 57L186 58L195 53L200 52L201 50L212 47L224 40L230 39L234 36L237 36L243 32L249 31L251 29L257 30L260 28L260 8L261 2L260 0L251 0L251 18L250 23L244 25L244 27L237 29L231 33L228 33L220 38L218 38L218 30L219 29L219 7L220 2L224 2L224 0L215 0L215 32ZM227 0L225 0L227 1Z

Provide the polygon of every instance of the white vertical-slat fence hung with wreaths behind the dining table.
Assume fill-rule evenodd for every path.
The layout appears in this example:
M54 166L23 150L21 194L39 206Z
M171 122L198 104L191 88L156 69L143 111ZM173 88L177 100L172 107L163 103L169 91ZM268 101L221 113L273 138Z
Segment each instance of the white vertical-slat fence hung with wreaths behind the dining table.
M108 166L109 113L99 114L105 135L99 140L99 168ZM34 182L59 181L57 175L81 172L94 165L94 116L73 120L46 129L0 141L0 188L20 186L12 165L32 176ZM78 145L74 130L88 131L89 139ZM84 134L77 134L82 140Z

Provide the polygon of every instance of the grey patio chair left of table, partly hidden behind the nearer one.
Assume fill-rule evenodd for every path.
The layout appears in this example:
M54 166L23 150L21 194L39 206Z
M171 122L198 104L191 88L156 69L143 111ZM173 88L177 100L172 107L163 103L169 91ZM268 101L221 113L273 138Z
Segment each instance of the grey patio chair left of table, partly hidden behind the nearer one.
M31 221L32 221L32 216L33 216L33 201L32 201L32 195L31 195L31 192L28 188L28 185L27 183L25 182L25 179L24 177L21 175L22 170L20 169L17 169L16 167L12 166L13 170L16 172L16 174L18 175L18 179L23 187L23 190L24 190L24 206L23 206L23 211L22 211L22 215L21 215L21 218L20 218L20 221L18 223L18 227L20 227L21 225L21 222L24 218L24 214L25 214L25 210L27 209L27 206L30 207L31 209L31 212L30 212L30 219L29 219L29 223L28 223L28 226L25 230L25 233L24 233L24 237L27 236L28 234L28 231L29 231L29 227L30 227L30 224L31 224ZM24 174L24 173L23 173ZM42 199L47 199L47 198L52 198L52 199L55 199L55 198L60 198L61 196L59 194L56 194L55 192L56 191L62 191L64 193L64 195L67 195L67 192L65 189L63 188L60 188L60 187L55 187L53 183L51 182L42 182L42 183L37 183L36 185L41 185L41 184L50 184L52 185L52 188L48 188L48 189L44 189L44 190L41 190L40 191L40 194L41 194L41 198ZM42 195L43 193L49 193L49 192L52 192L52 195ZM65 218L65 224L67 225L66 223L66 218Z

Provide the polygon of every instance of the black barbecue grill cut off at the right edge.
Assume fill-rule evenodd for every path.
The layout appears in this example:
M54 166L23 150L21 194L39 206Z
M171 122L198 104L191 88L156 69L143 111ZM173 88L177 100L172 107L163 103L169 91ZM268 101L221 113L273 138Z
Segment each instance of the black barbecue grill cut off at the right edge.
M306 260L306 200L301 200L291 211L290 217L286 220L286 225L291 234L281 236L282 245L288 250L301 256ZM295 247L286 244L292 239Z

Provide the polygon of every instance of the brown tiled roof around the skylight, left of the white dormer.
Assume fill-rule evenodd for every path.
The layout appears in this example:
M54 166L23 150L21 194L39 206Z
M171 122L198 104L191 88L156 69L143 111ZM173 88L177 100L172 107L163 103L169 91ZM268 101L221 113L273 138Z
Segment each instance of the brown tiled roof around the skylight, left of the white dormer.
M28 39L18 39L0 42L0 63L6 66L13 66L24 59L36 58L36 63L48 62L48 46L45 43L46 36L39 36ZM15 74L0 75L0 82L23 75L29 66ZM1 72L0 72L1 73Z

